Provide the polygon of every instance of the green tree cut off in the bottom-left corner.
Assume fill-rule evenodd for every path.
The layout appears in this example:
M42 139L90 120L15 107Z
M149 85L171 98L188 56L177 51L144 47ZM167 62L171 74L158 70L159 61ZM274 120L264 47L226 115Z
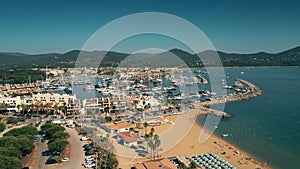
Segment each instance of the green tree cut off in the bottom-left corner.
M0 155L0 168L3 169L20 169L22 168L22 162L16 157L8 157Z

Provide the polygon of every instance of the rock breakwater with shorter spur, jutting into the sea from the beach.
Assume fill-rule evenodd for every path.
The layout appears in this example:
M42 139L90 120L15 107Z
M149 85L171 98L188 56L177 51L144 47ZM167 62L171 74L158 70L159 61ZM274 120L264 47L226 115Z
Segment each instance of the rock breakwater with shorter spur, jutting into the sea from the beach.
M207 108L208 106L211 105L216 105L216 104L224 104L224 103L228 103L228 102L236 102L236 101L240 101L240 100L247 100L253 97L257 97L259 95L262 94L262 91L255 86L254 84L243 80L243 79L237 79L237 82L239 82L242 86L240 86L240 88L238 88L238 92L235 92L234 94L230 94L224 97L219 97L216 99L213 99L211 101L205 101L205 102L201 102L199 109L202 111L206 111L209 114L213 114L219 117L230 117L230 115L226 112L222 112L219 110L213 110L213 109L209 109Z

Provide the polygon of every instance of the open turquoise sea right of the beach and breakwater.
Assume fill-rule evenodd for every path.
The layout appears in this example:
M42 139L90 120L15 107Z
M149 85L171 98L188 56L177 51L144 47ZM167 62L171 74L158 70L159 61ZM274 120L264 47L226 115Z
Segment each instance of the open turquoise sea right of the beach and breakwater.
M216 134L274 168L300 168L300 68L226 68L228 83L240 77L258 86L263 95L227 103ZM244 72L244 74L241 74ZM205 121L198 117L198 122Z

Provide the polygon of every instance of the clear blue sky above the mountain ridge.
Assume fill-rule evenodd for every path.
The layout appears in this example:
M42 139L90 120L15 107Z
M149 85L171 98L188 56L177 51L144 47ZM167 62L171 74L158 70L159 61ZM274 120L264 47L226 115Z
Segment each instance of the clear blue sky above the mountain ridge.
M196 25L217 50L276 53L300 45L299 6L299 1L277 0L2 0L0 51L37 54L81 49L97 30L115 19L162 12ZM153 39L147 42L149 47L159 40L161 48L179 44L157 36ZM135 50L141 41L124 43L127 45L116 50Z

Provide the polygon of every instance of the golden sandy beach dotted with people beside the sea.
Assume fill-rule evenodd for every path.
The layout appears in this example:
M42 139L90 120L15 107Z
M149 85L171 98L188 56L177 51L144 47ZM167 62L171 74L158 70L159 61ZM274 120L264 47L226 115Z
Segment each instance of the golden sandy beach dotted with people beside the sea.
M184 118L183 115L178 116L170 116L167 117L170 121L178 122L179 119ZM172 133L170 128L175 126L184 128L184 126L180 126L183 123L176 123L176 125L170 126L167 125L160 125L155 126L155 133L162 135L162 143L173 143L174 139L172 137L163 137L164 133ZM172 147L168 151L162 152L158 158L167 158L167 157L178 157L182 161L189 163L186 159L187 156L192 155L199 155L205 153L215 153L224 160L227 160L230 164L235 166L238 169L256 169L256 168L264 168L269 169L270 167L265 167L262 162L254 159L251 155L247 154L246 152L242 151L241 149L235 147L234 145L228 143L227 141L223 140L221 137L216 135L211 135L211 137L204 143L199 143L199 134L201 133L202 126L197 123L193 123L191 129L187 133L187 135L178 143L176 146ZM142 129L143 130L143 129ZM150 131L150 127L147 129ZM177 129L176 129L177 130ZM167 132L166 132L167 131ZM141 131L141 133L143 133ZM163 133L163 134L162 134ZM164 149L164 145L162 144L162 148ZM122 156L117 156L119 160L119 167L123 169L130 168L134 166L135 163L141 161L150 160L150 158L126 158Z

